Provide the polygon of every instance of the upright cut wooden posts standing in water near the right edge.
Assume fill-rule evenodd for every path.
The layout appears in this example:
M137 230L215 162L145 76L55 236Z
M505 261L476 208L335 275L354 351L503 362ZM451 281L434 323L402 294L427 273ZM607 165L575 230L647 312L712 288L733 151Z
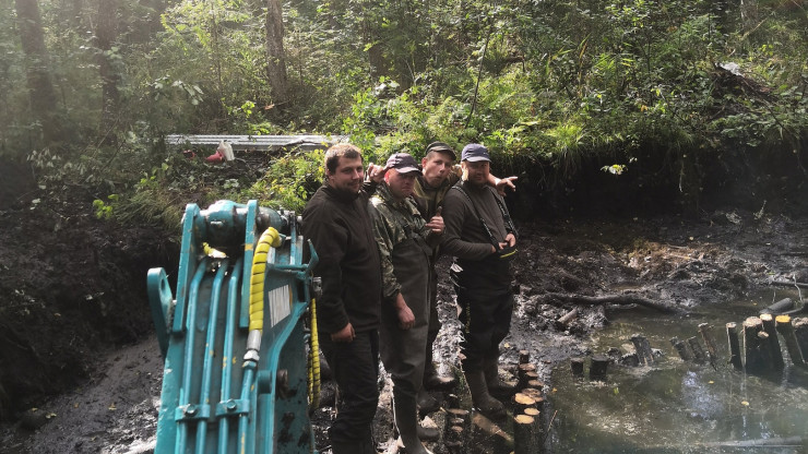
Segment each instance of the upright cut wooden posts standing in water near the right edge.
M716 366L718 357L715 342L710 335L710 325L700 324L699 333L706 349L702 348L696 336L688 338L687 344L674 337L670 344L685 361L699 363L709 361ZM796 367L806 367L808 363L808 318L792 320L791 315L771 313L761 313L760 316L746 319L741 323L741 333L738 333L737 323L726 324L729 346L728 362L735 369L746 369L749 373L783 370L785 361L777 334L785 343L792 363ZM740 339L744 340L742 351Z

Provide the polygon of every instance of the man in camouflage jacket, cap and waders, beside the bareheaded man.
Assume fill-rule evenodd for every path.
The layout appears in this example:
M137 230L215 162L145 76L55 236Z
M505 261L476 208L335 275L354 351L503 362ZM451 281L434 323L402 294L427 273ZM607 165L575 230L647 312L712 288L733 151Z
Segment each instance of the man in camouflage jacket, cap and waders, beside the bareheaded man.
M425 454L418 423L416 396L424 377L429 327L429 255L443 234L443 219L425 222L411 199L415 179L421 175L415 159L396 153L388 159L385 184L371 203L373 234L382 268L380 351L393 380L393 413L407 453ZM437 435L436 433L429 434Z

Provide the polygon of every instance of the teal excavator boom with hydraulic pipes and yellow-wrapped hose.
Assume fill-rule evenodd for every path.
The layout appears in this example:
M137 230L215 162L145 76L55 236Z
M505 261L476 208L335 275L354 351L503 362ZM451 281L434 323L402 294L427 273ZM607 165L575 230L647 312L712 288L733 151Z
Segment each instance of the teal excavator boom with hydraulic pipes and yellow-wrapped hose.
M302 263L293 212L256 201L186 207L176 297L165 270L147 276L165 358L156 454L316 453L308 249Z

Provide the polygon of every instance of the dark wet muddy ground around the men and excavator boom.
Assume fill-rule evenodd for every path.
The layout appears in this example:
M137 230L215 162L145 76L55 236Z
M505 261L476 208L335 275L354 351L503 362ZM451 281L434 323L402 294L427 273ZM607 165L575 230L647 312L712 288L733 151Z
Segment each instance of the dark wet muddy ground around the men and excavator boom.
M0 189L0 453L151 452L162 359L145 276L150 267L176 266L177 238L96 219L92 194L48 203L25 178ZM554 365L590 354L584 340L608 323L606 311L578 306L578 320L558 326L577 307L570 296L643 297L680 310L670 316L687 316L776 279L808 282L806 220L732 206L688 217L522 220L513 318L520 334L503 343L502 372L513 371L519 349L528 349L551 385ZM452 371L459 323L445 273L439 291L444 328L436 353ZM391 442L389 408L384 394L380 450ZM332 410L314 414L320 449L328 446L322 434Z

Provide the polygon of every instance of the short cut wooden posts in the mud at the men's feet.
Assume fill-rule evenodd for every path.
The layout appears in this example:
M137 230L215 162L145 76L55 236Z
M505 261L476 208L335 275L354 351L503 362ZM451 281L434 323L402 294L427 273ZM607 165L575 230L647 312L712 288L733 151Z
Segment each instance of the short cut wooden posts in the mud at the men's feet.
M538 380L536 367L530 362L527 350L519 351L519 373L516 390L512 398L513 404L513 446L514 454L535 454L542 452L544 444L540 422L544 411L544 383ZM468 451L472 437L472 416L468 410L460 408L456 395L447 397L450 407L447 410L443 440L447 452L461 454Z

